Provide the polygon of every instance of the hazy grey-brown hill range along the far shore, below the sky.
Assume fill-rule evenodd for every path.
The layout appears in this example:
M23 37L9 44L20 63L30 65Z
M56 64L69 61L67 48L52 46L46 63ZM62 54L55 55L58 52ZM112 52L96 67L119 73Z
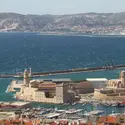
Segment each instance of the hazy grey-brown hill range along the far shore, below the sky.
M124 34L125 12L71 15L21 15L16 13L0 13L0 31Z

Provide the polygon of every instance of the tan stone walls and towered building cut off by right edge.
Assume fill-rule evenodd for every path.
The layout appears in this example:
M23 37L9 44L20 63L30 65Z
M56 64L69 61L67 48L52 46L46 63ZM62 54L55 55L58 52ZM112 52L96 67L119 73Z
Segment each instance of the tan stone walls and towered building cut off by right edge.
M95 89L94 98L101 100L125 100L125 71L121 71L119 79L111 79L107 86Z

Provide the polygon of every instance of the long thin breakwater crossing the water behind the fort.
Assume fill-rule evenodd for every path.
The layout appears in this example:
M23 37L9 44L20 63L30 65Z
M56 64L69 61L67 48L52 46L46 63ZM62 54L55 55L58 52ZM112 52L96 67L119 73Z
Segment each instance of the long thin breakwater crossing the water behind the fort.
M49 71L49 72L33 72L32 77L40 77L40 76L50 76L50 75L58 75L58 74L69 74L69 73L80 73L80 72L95 72L101 70L113 70L125 68L125 64L114 65L114 66L100 66L100 67L92 67L92 68L74 68L68 70L59 70L59 71ZM0 74L0 78L12 78L12 77L23 77L23 74Z

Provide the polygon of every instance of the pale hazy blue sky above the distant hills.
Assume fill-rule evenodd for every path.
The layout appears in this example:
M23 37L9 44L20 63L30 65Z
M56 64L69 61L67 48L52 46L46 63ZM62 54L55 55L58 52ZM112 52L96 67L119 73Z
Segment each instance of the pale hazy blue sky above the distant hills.
M0 0L0 12L70 14L125 11L125 0Z

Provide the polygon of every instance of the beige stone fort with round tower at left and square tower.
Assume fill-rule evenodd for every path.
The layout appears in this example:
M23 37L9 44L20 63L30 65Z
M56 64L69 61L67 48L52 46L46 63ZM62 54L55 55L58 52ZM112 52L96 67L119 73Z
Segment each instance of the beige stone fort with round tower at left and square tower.
M63 83L62 80L55 80L55 82L39 79L29 80L29 72L25 70L23 85L16 93L16 98L46 103L73 103L75 93L69 89L65 82Z

